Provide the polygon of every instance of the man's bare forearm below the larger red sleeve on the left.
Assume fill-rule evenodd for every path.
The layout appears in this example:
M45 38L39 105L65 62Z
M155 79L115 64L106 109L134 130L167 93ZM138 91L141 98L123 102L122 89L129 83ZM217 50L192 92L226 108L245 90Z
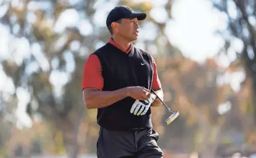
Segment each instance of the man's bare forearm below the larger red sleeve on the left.
M116 91L99 91L96 89L84 89L83 98L87 109L96 109L110 106L128 96L127 88Z

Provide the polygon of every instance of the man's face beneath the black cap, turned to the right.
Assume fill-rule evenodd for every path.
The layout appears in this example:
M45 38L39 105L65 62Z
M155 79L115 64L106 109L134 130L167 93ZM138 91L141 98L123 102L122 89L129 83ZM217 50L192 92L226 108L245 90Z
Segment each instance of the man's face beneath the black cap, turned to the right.
M139 33L138 19L122 19L121 23L118 24L117 33L118 35L127 38L129 41L135 41L138 38Z

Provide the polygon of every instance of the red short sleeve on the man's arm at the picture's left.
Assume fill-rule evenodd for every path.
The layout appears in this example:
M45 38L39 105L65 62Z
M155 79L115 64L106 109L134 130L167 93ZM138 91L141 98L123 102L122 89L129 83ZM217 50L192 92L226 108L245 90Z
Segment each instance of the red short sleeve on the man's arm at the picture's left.
M90 55L83 69L82 89L97 88L101 91L103 84L100 60L96 55Z

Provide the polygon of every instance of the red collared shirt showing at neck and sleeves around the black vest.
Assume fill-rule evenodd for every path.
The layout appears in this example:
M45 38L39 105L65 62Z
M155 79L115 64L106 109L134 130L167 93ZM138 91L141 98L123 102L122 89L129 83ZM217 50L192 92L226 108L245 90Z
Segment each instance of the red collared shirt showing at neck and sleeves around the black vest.
M129 53L132 49L132 44L131 44L129 46L129 49L127 51L125 51L116 42L114 42L112 38L110 38L110 40L108 42L125 53ZM154 72L152 89L157 90L162 87L161 87L161 83L160 83L160 80L159 80L159 77L157 74L156 62L153 59L153 57L152 57L152 62L153 62L153 72ZM104 79L101 76L100 60L96 55L90 55L85 63L84 69L83 69L82 89L96 88L101 91L103 89L103 86L104 86Z

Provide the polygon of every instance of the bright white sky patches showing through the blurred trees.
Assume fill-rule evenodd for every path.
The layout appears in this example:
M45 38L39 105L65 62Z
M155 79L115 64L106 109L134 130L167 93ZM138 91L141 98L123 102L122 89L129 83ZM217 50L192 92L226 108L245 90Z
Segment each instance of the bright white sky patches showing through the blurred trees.
M79 2L80 0L69 1L72 5ZM167 12L163 9L164 5L168 0L133 0L135 2L150 1L152 2L154 8L150 11L149 15L154 20L160 23L167 23L167 27L164 30L167 37L172 45L177 46L183 55L187 58L196 60L199 63L204 63L206 58L211 58L219 53L219 49L222 48L224 40L220 35L215 34L215 30L225 30L227 27L227 17L223 13L218 12L212 8L211 1L206 0L176 0L173 1L172 15L173 19L169 20L167 17ZM1 0L0 0L1 2ZM105 26L105 19L107 13L113 8L118 1L104 1L99 0L94 5L94 8L100 8L97 10L94 16L94 23L96 26ZM19 1L12 1L13 5L19 4ZM41 2L41 5L37 5L34 2L29 3L29 10L34 8L47 8L48 4ZM232 4L230 4L232 6ZM232 7L231 7L232 8ZM0 18L6 12L6 8L3 5L0 8ZM235 8L229 10L232 16L236 16ZM96 18L97 17L97 18ZM101 18L99 18L101 17ZM28 14L30 21L34 20L33 14ZM54 24L54 30L57 33L63 33L66 26L76 26L78 27L82 35L89 35L93 33L93 26L86 19L80 19L81 15L74 9L65 10L57 23ZM47 21L48 24L52 24L52 21ZM143 40L153 40L156 37L157 30L156 26L152 23L146 23L140 28L138 46L143 49ZM14 27L16 30L19 26ZM0 59L13 59L18 65L22 63L22 59L26 59L27 56L33 54L37 56L37 62L31 63L31 66L26 71L28 73L33 73L33 71L38 70L41 67L44 71L50 69L50 66L57 67L58 60L52 59L51 63L48 63L41 51L41 46L38 43L29 44L26 38L15 38L13 35L9 34L8 28L0 24ZM55 45L55 49L61 49L62 44L66 40L66 37L59 39ZM102 46L104 42L100 41L96 48ZM15 46L12 46L15 45ZM217 62L222 67L229 66L229 63L236 59L235 51L240 51L242 48L242 43L239 39L232 39L232 48L229 49L228 55L220 53L220 56L216 57ZM13 51L15 50L16 51ZM79 42L72 42L71 49L78 50L80 48ZM156 48L152 48L156 50ZM14 52L9 53L9 52ZM86 52L86 49L85 49ZM88 53L88 52L87 52ZM152 52L154 53L154 52ZM157 53L157 52L155 52ZM69 63L66 67L68 73L75 70L75 62L73 61L73 55L71 52L65 52L65 60ZM68 82L69 74L64 72L59 72L58 70L52 71L50 76L50 82L55 85L55 92L61 95L61 87ZM26 105L30 100L29 93L25 88L18 88L15 90L10 80L4 74L2 67L0 65L0 91L5 92L5 94L13 94L17 92L19 103L16 109L17 125L25 125L27 127L31 126L31 120L27 116L25 109ZM59 82L59 77L66 78ZM237 72L236 74L226 74L219 79L220 84L229 83L232 85L234 91L239 91L239 83L243 81L244 73ZM5 82L5 84L3 84ZM6 84L9 83L9 84ZM9 100L10 95L5 95L5 99ZM230 109L229 103L223 103L219 107L220 113L225 113Z

